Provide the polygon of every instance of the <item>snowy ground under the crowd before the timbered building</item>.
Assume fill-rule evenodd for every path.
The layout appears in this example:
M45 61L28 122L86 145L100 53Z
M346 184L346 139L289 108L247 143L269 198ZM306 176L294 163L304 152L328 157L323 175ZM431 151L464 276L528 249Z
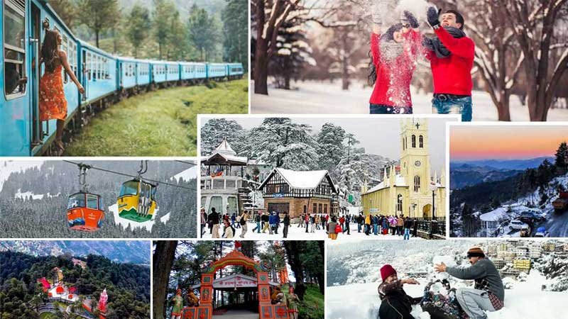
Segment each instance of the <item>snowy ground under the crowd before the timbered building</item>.
M280 227L278 228L278 234L274 234L270 235L268 233L268 230L266 230L266 233L253 233L253 229L256 227L256 223L247 223L247 230L246 230L246 234L244 235L244 239L246 240L280 240L282 239L282 230L283 230L283 225L280 224ZM201 225L198 225L199 228L201 228ZM297 227L297 224L292 224L290 225L290 227L288 228L288 239L293 239L293 240L324 240L325 238L327 238L327 234L325 233L324 230L322 230L320 228L320 230L315 230L315 233L310 233L309 231L312 230L311 228L312 226L310 225L310 228L308 229L308 233L306 233L306 228L299 228ZM207 228L207 225L205 226L204 229L205 233L203 234L202 238L205 239L209 239L211 238L211 234L209 234L209 228ZM239 239L240 235L241 235L241 231L242 228L235 228L235 237L236 239ZM221 236L223 234L223 228L219 227L219 236ZM338 238L341 237L342 235L339 234Z

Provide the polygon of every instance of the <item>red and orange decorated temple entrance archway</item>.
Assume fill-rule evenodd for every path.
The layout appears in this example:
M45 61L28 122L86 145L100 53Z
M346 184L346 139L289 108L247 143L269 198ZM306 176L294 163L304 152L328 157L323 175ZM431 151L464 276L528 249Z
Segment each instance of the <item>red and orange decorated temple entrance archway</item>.
M286 305L271 304L268 269L262 267L259 262L246 257L242 252L239 252L239 250L229 252L229 254L212 262L212 264L209 264L209 266L204 269L201 275L200 306L197 308L187 308L182 315L182 319L212 319L213 275L217 270L227 266L242 266L256 273L258 285L258 316L260 319L288 319L288 308Z

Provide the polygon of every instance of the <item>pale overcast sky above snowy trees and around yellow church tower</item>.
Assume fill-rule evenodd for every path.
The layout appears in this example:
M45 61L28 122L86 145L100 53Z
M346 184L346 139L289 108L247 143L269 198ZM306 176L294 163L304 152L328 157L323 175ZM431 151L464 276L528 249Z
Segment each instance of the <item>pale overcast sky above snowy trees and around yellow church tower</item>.
M263 118L227 118L241 124L246 130L258 126ZM202 118L201 125L207 123L208 118ZM367 153L381 155L390 159L400 157L400 118L293 118L296 123L312 126L312 133L319 132L324 123L339 125L347 133L353 133ZM453 118L429 118L430 128L430 162L432 169L439 171L445 163L446 138L445 130L448 121Z

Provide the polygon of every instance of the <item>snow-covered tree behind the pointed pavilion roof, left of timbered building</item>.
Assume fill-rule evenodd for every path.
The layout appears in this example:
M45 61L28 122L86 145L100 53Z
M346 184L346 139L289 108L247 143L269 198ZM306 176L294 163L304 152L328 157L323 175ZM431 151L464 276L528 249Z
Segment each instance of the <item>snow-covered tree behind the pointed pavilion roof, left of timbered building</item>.
M226 138L233 150L239 154L245 148L246 130L234 120L212 118L201 128L201 155L210 155Z

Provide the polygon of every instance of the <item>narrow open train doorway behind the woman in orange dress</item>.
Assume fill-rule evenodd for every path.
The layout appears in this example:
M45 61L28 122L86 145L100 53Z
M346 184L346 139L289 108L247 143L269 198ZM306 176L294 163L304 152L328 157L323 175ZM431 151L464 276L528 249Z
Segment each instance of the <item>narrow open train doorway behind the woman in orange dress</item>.
M31 21L30 21L30 61L31 61L31 85L30 85L30 104L31 104L31 148L32 153L33 148L41 145L43 138L47 135L44 134L43 125L40 121L39 112L39 96L40 96L40 40L41 40L41 16L40 9L35 6L33 2L31 4ZM47 123L46 123L47 124Z

